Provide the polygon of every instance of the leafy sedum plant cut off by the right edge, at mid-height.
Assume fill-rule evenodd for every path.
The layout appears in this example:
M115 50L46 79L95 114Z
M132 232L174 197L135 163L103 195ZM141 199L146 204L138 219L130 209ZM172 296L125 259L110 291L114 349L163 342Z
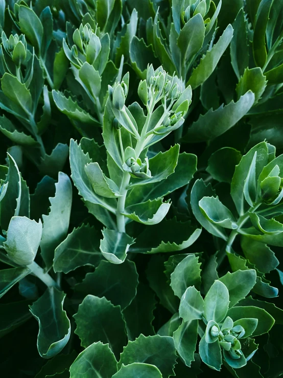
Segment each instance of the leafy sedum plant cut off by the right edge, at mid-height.
M234 172L233 164L218 170L217 163L228 156L230 162L238 162ZM267 142L255 145L243 157L235 149L220 149L211 155L207 170L216 180L230 183L229 207L202 180L195 182L191 192L195 217L208 232L224 240L219 259L226 254L233 271L255 268L257 283L253 290L269 298L277 296L278 290L269 286L265 273L275 269L278 260L267 244L283 245L281 161L282 155L275 157L275 147ZM241 236L244 256L232 248L237 235ZM268 265L261 263L261 254L256 250L269 255Z

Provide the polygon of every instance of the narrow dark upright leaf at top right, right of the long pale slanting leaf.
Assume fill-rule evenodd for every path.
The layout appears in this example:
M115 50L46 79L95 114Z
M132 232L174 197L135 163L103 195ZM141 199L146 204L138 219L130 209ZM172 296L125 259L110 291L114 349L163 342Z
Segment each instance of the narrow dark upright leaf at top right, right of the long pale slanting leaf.
M231 64L238 80L244 75L244 71L249 64L247 28L245 12L241 8L233 22L234 34L230 44Z

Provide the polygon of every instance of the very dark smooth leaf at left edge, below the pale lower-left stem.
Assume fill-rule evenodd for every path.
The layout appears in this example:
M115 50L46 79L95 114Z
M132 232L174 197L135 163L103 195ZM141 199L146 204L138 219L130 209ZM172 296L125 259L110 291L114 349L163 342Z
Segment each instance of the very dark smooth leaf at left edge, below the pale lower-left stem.
M0 338L7 335L13 329L26 323L31 318L28 304L29 300L0 304L1 327Z

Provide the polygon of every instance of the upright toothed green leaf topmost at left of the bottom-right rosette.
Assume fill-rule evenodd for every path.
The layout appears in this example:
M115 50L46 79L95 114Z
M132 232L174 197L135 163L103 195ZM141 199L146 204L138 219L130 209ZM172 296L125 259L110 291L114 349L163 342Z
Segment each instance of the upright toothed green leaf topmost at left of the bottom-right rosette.
M181 298L189 286L200 288L200 265L198 257L188 255L176 266L171 274L170 286L177 297Z

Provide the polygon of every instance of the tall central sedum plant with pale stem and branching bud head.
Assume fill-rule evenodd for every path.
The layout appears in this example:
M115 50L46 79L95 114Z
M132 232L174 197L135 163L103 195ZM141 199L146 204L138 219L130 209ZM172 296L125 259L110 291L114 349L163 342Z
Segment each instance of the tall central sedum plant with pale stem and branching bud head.
M138 96L147 110L145 115L138 103L125 105L129 90L126 74L121 83L109 86L102 132L105 147L88 142L84 149L75 141L70 143L74 184L89 212L106 226L100 250L113 263L122 263L129 248L134 252L173 252L187 248L200 234L199 229L188 225L176 244L172 236L160 232L152 248L141 236L137 245L130 247L138 234L133 237L126 233L131 221L147 226L162 224L171 206L170 200L163 201L163 197L186 185L195 172L195 155L179 155L178 144L165 152L157 153L157 149L152 158L148 157L150 147L184 122L192 92L191 87L182 91L177 81L161 67L156 71L152 65L148 67L147 79L138 85ZM173 220L171 227L177 229L178 223ZM143 233L150 231L145 229Z

